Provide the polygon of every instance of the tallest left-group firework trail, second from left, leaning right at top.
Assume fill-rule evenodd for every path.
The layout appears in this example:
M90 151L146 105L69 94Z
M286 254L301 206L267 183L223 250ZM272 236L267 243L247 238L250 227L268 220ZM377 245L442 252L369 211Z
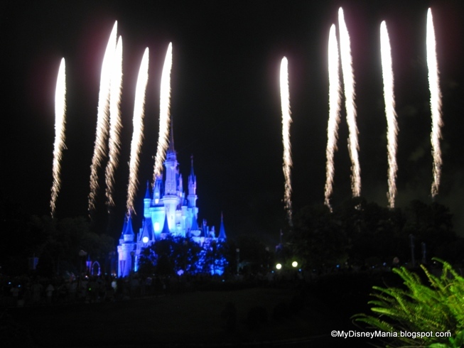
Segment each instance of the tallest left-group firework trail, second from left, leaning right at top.
M102 63L102 75L100 77L100 91L98 95L97 131L95 135L92 165L90 165L89 212L95 209L95 197L98 189L98 170L102 159L106 156L109 123L109 85L112 75L114 51L116 50L116 40L117 22L114 23L113 30L109 36L107 50L104 53Z

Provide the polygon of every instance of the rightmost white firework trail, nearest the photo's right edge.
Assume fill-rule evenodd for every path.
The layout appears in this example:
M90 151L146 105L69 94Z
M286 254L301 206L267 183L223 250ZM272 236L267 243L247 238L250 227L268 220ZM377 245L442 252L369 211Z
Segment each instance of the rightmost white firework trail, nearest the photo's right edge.
M428 89L430 89L430 109L432 114L432 156L433 156L433 183L431 187L431 195L438 195L438 187L440 185L441 176L441 90L440 81L438 79L438 62L436 59L436 40L435 31L433 30L432 11L427 12L427 66L428 66Z

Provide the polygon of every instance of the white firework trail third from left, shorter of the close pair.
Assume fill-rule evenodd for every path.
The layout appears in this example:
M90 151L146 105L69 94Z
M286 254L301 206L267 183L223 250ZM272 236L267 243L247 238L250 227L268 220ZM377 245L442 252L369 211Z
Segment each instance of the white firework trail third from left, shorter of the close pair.
M114 171L118 166L119 148L121 141L119 134L121 132L121 112L119 104L121 103L122 89L122 38L119 36L116 52L114 54L114 62L112 67L111 86L109 91L109 161L105 172L105 181L107 184L107 205L114 206L113 186L114 186Z

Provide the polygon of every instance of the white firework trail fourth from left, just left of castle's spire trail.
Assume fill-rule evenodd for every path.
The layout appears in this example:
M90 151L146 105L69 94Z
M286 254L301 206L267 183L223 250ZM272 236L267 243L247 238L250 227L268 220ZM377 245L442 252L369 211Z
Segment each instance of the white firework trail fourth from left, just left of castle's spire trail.
M139 172L139 154L141 143L144 138L144 113L145 113L145 92L146 84L149 80L149 48L145 49L144 57L142 58L139 77L137 77L137 86L135 90L134 102L134 131L131 141L131 159L129 161L129 185L127 188L126 208L128 213L134 212L134 197L136 195L137 185L139 180L137 175Z

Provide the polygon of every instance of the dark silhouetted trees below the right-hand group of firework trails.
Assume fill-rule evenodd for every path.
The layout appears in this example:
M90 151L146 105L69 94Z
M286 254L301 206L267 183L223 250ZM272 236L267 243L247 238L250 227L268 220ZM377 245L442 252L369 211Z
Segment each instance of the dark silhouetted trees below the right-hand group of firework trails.
M416 260L423 258L423 245L427 259L462 262L464 239L453 231L452 217L448 207L436 202L414 200L406 208L390 209L355 197L333 211L325 205L302 207L284 241L292 257L308 268L330 268L345 261L352 266L391 265L395 258L410 262L411 235Z

